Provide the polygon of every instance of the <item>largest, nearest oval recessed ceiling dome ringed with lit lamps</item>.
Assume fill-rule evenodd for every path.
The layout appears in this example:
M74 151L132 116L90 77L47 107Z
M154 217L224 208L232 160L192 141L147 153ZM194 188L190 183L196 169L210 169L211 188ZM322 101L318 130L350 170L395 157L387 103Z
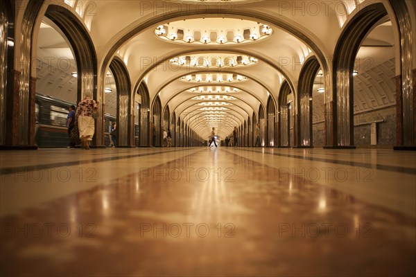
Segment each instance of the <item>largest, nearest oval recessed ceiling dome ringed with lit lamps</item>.
M272 28L257 21L234 18L198 18L172 21L155 29L160 39L184 44L240 44L259 41Z

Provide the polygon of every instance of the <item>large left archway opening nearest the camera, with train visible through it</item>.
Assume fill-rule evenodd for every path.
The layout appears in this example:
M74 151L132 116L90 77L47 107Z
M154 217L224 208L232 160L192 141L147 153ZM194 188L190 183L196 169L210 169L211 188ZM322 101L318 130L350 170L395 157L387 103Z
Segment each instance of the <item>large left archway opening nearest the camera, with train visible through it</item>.
M80 100L76 56L67 36L47 17L36 47L35 143L41 148L67 147L69 107Z

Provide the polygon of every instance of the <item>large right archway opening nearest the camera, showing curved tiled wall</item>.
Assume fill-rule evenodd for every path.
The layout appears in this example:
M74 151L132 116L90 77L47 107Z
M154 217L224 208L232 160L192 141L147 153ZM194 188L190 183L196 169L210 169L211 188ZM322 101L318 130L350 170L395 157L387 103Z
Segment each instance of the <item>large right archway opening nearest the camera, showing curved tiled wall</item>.
M388 147L396 143L395 38L388 19L361 43L353 71L354 145Z

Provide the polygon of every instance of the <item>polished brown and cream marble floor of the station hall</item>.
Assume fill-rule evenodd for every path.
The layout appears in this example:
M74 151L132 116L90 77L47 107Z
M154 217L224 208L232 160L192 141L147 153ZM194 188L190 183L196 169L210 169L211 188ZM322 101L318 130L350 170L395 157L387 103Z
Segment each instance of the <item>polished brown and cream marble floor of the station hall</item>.
M1 152L0 276L415 276L416 155Z

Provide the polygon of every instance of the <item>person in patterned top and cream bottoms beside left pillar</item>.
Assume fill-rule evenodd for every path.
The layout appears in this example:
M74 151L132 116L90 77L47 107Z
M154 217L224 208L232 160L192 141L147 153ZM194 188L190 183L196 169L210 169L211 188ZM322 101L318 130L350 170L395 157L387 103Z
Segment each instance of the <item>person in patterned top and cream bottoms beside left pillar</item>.
M85 93L85 98L78 103L76 119L80 132L81 148L89 150L89 141L94 136L95 118L92 113L98 109L98 102L92 99L92 93Z

